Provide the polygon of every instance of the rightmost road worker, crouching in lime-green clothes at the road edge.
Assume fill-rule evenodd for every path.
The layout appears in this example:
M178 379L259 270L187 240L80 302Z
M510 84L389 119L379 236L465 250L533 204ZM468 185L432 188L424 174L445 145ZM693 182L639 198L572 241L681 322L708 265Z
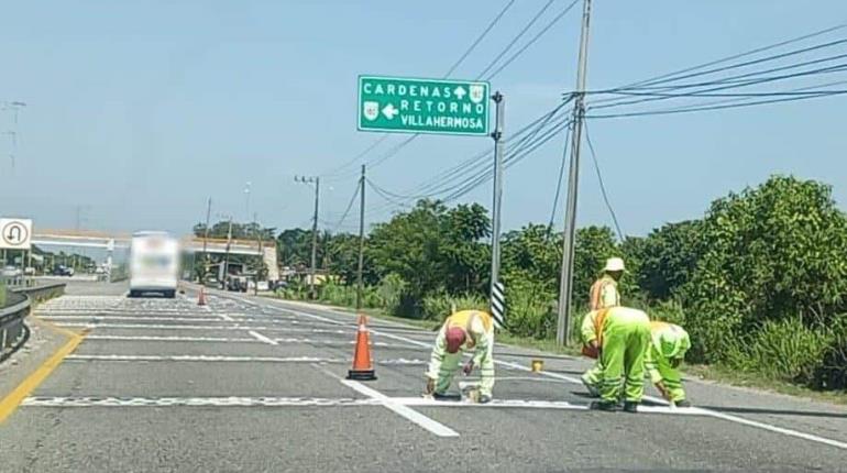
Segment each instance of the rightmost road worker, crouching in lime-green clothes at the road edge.
M682 327L650 322L650 346L645 353L645 369L656 388L676 407L691 407L678 370L690 348L691 339Z

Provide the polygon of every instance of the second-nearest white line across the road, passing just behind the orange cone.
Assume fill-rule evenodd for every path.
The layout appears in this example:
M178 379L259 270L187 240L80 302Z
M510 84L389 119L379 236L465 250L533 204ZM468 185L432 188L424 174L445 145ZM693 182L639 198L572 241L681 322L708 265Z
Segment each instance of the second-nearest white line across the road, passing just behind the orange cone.
M231 363L328 363L349 364L349 359L317 356L238 356L238 355L121 355L121 354L69 354L66 362L231 362ZM418 359L377 360L380 365L425 366L429 363Z

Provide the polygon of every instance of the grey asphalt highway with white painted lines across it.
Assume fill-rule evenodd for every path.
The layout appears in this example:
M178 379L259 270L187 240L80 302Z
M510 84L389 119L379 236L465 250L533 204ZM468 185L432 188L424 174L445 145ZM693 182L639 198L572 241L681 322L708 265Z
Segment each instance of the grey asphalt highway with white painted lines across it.
M0 471L847 471L843 407L691 382L693 409L588 411L583 360L534 374L536 354L499 345L495 403L431 402L432 332L373 320L378 380L355 383L351 315L124 292L38 308L89 332L0 425Z

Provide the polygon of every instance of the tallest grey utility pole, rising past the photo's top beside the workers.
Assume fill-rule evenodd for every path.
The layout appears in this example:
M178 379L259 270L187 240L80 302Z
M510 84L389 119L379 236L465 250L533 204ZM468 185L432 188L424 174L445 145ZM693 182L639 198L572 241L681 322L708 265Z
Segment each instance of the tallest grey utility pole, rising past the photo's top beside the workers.
M580 63L576 72L576 97L573 103L573 135L571 136L571 163L568 167L568 196L564 207L564 242L562 245L562 275L559 285L559 318L556 341L560 345L571 339L571 295L573 294L573 248L576 237L576 190L580 180L580 143L582 122L585 119L585 76L588 62L588 24L591 0L583 0L582 33L580 35Z

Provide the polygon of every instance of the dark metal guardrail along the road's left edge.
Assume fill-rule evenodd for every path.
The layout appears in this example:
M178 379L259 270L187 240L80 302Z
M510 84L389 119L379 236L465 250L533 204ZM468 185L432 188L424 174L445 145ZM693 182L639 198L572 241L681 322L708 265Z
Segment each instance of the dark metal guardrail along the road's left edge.
M8 359L30 339L30 328L24 323L24 319L30 314L32 302L64 293L64 283L9 288L6 295L6 307L0 308L0 362Z

